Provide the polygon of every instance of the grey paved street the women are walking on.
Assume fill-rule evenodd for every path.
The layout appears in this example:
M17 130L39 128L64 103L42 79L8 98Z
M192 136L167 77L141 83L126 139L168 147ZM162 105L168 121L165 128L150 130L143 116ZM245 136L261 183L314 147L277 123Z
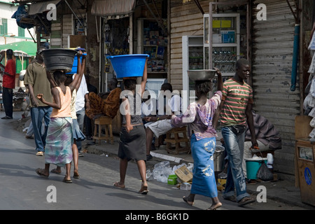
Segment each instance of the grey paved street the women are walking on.
M104 210L204 210L210 207L207 197L197 195L195 206L189 207L181 199L188 191L179 190L167 183L149 182L150 193L139 195L141 186L137 165L130 162L127 169L125 190L113 187L119 180L119 160L106 155L85 153L79 158L80 179L63 183L62 175L50 174L49 179L39 177L35 169L44 167L44 158L36 157L34 140L25 139L25 133L15 130L14 121L21 118L15 112L13 120L0 120L0 209L104 209ZM0 117L3 111L0 112ZM51 165L51 169L55 165ZM73 172L73 169L71 169ZM55 190L50 190L52 186ZM48 197L56 193L55 197ZM48 199L47 199L48 197ZM56 202L49 202L55 198ZM220 210L288 210L302 209L268 200L253 203L244 208L234 202L223 200Z

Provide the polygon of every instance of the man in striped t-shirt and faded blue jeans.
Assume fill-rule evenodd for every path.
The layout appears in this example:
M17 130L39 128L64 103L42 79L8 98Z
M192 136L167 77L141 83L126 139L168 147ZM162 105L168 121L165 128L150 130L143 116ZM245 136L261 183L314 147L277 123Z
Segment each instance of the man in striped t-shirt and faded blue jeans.
M223 198L238 202L239 206L255 202L246 193L246 179L241 168L246 124L251 131L253 146L258 146L253 126L253 89L244 81L250 71L251 67L246 59L237 61L235 76L223 84L222 102L214 118L214 124L220 118L225 150L229 157L228 178Z

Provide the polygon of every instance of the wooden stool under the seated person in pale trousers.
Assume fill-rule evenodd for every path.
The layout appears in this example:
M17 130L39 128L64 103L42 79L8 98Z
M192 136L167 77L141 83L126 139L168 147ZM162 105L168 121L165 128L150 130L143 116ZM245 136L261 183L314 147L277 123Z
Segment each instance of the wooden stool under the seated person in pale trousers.
M169 130L169 132L167 132L165 142L167 143L167 153L190 153L190 143L187 137L186 126L175 127L172 130ZM185 147L181 147L182 142L185 143Z

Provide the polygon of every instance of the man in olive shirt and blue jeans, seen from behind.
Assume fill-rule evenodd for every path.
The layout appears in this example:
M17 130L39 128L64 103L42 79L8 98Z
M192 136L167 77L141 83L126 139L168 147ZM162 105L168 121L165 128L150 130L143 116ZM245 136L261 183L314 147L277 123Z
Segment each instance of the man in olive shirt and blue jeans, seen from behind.
M52 102L52 93L50 82L46 75L46 69L42 56L43 48L36 52L36 58L25 73L24 83L29 88L29 97L31 101L31 122L34 128L34 139L36 144L36 155L43 156L45 151L46 136L50 121L52 108L43 104L37 99L37 94L42 93L47 102ZM45 123L45 131L42 133L42 124Z

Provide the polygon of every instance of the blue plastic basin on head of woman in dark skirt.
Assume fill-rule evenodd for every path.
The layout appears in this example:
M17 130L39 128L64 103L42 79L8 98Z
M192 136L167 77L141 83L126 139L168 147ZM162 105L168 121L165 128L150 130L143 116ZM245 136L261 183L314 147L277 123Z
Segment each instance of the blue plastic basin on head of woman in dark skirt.
M144 76L144 66L149 55L107 56L116 72L117 78Z

